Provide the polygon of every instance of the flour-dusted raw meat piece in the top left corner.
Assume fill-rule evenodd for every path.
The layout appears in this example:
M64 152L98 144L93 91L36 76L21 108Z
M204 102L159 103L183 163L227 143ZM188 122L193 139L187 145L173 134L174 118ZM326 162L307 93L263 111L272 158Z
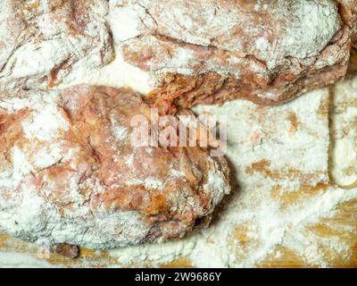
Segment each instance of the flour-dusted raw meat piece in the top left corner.
M112 60L104 0L2 0L0 90L53 87L71 69Z

